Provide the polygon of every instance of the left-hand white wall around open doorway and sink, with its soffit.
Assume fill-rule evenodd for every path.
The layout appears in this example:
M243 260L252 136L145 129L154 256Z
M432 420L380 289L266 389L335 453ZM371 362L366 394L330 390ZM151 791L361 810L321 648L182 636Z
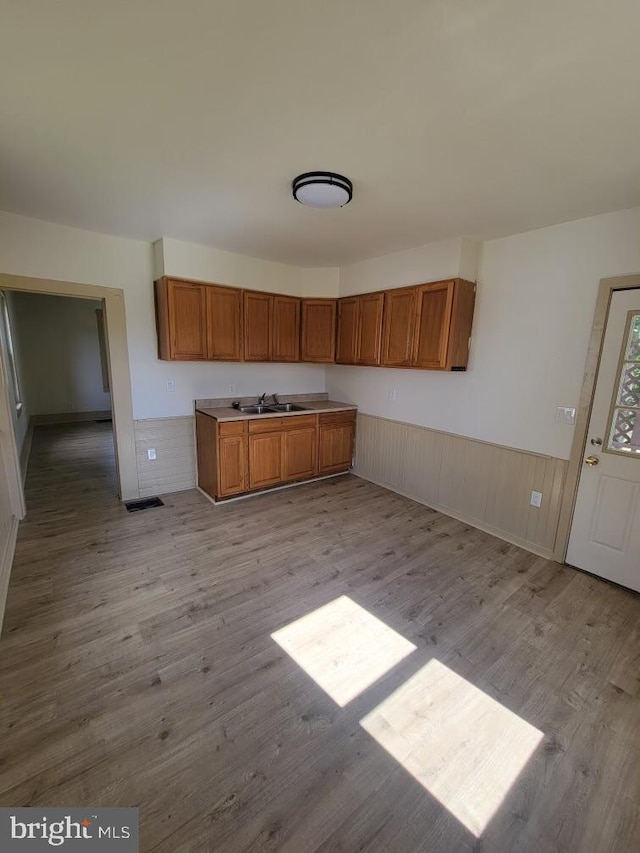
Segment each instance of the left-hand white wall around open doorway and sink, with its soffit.
M301 292L300 281L304 280L304 275L296 267L287 268L283 264L214 250L204 253L206 269L203 263L195 261L180 266L179 257L189 259L193 247L191 244L176 247L178 241L168 242L176 250L172 261L169 246L168 262L173 264L171 271L174 275L204 277L220 284L282 292L293 288L295 280L298 282L296 292ZM167 250L167 245L164 249ZM193 251L197 256L196 250ZM156 248L156 265L161 254ZM288 270L288 287L281 286L283 267ZM0 212L0 272L123 289L136 419L191 414L194 399L229 396L230 385L236 386L234 393L239 396L262 391L282 394L324 391L325 371L322 366L160 361L152 286L154 247L151 243ZM203 276L204 272L206 275ZM248 274L255 274L255 279L248 280ZM175 382L175 392L167 392L168 380Z

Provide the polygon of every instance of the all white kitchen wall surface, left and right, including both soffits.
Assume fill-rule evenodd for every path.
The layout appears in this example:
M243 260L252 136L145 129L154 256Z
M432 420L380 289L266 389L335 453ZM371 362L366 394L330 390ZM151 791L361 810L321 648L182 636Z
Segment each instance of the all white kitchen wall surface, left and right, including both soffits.
M174 240L160 248L156 273L160 262L171 274L221 284L298 295L309 295L311 283L323 284L327 295L335 288L335 270L300 270ZM340 294L470 278L474 264L467 241L433 243L343 267ZM327 390L369 414L567 458L573 430L555 423L555 407L577 403L598 282L639 270L637 208L489 241L467 373L331 366ZM194 399L228 396L231 385L238 396L325 389L322 366L159 361L150 243L0 213L0 272L124 290L137 419L189 414ZM168 380L175 393L166 391Z

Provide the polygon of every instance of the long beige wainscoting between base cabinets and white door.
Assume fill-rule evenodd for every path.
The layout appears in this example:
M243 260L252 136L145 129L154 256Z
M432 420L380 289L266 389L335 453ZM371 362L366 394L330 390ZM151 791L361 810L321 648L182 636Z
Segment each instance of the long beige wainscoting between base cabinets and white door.
M358 414L354 474L551 557L568 462ZM542 506L530 504L532 490Z

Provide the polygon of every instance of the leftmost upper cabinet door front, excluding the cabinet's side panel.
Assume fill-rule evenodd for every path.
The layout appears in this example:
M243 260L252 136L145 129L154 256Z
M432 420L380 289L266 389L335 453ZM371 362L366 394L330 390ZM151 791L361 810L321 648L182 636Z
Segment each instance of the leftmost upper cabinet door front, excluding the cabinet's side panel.
M206 360L205 285L169 279L165 286L169 358L179 361Z

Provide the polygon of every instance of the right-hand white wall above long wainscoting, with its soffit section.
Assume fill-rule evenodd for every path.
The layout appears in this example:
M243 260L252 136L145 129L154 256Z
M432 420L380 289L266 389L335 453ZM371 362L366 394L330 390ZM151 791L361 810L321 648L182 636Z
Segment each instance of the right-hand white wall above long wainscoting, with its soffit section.
M346 267L340 294L456 275L449 242ZM555 407L577 405L599 281L638 271L640 208L491 240L466 373L331 366L327 390L368 414L567 459L573 427Z

